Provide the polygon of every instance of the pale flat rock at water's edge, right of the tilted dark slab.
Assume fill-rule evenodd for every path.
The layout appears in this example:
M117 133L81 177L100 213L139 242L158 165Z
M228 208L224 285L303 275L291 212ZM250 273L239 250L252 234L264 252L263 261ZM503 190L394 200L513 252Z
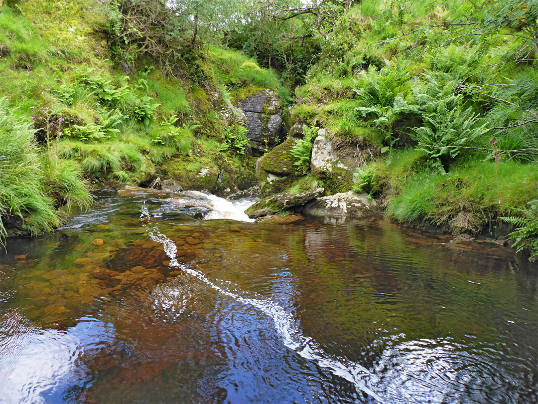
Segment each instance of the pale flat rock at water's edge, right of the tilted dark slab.
M305 205L302 213L312 216L353 216L363 217L377 211L377 203L367 193L353 191L336 193L317 198Z

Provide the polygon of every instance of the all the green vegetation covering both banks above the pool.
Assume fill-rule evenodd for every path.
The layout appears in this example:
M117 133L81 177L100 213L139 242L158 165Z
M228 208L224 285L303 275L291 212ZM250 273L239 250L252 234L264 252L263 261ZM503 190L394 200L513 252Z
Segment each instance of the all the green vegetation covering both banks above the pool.
M353 185L350 172L309 174L322 127L353 150L354 189L383 197L395 220L457 233L510 218L516 247L532 249L537 17L535 2L516 0L4 2L1 147L22 171L2 168L13 195L2 220L57 226L60 208L88 205L83 178L217 187L203 170L230 189L250 185L247 130L230 102L268 88L291 106L288 129L306 124L292 150L308 176L296 190ZM23 172L36 206L8 190Z

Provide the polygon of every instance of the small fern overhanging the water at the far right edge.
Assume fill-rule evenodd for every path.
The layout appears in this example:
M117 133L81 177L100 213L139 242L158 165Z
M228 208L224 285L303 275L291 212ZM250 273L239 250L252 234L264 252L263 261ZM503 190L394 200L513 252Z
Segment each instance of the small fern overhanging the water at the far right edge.
M505 222L513 225L516 229L508 234L508 238L514 241L517 252L527 249L530 251L529 261L538 260L538 199L527 203L528 207L516 209L518 216L501 217Z

